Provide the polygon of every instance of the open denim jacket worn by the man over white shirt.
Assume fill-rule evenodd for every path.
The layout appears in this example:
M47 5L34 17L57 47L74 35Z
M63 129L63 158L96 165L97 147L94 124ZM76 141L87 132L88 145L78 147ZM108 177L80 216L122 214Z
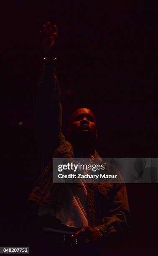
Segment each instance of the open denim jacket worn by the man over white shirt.
M61 133L62 108L59 84L53 64L45 64L39 82L36 105L36 128L43 149L43 170L28 199L43 207L61 210L66 198L66 184L53 184L53 158L73 158L73 146ZM100 158L97 151L95 158ZM107 169L118 171L107 163ZM130 221L124 183L86 184L87 219L89 226L98 227L103 236L122 233Z

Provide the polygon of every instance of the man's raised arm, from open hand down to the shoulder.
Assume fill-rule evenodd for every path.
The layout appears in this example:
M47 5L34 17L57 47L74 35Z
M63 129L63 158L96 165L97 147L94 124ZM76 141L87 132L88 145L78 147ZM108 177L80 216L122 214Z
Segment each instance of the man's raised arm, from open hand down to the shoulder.
M50 155L65 140L61 133L62 108L55 69L57 27L54 26L52 31L51 24L48 22L43 26L40 35L45 62L39 80L36 102L36 132L43 154Z

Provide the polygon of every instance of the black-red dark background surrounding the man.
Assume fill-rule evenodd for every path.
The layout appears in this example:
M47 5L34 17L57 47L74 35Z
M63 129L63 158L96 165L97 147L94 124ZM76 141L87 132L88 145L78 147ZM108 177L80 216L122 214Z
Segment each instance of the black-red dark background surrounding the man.
M34 131L43 63L41 26L50 21L59 30L57 76L63 131L74 109L91 108L98 121L97 149L102 157L157 158L158 5L143 0L14 0L1 3L1 11L1 147L5 160L1 220L5 246L18 246L24 234L27 246L25 227L31 225L31 210L26 202L41 159ZM120 247L131 247L136 255L153 255L157 184L127 184L127 192L132 223Z

